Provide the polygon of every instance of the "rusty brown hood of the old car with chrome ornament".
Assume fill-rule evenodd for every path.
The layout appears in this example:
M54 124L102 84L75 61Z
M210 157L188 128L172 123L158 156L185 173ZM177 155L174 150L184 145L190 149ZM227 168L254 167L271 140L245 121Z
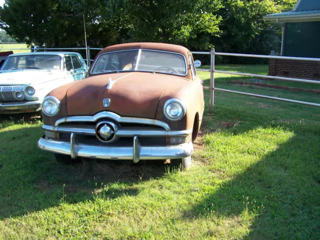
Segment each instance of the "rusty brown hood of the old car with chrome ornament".
M109 79L113 82L107 89ZM162 95L188 84L182 77L150 72L121 72L91 76L72 84L67 91L68 115L93 115L112 111L121 116L154 118ZM109 107L103 99L109 98Z

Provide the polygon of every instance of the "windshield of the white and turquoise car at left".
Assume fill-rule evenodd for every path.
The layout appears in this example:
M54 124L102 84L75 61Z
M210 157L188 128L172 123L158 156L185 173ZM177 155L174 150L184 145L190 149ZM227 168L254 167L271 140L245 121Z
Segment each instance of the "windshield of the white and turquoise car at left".
M9 56L1 70L47 69L60 70L61 57L57 55L19 55Z

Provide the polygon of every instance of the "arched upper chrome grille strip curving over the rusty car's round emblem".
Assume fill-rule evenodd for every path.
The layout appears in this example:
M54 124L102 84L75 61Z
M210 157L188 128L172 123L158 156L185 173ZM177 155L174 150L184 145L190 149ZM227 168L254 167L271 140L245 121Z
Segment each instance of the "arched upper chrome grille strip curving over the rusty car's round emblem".
M170 126L168 123L156 119L149 118L141 118L141 117L129 117L129 116L120 116L117 113L110 111L101 111L93 116L66 116L59 118L55 122L55 126L59 126L63 122L74 122L74 121L91 121L95 122L100 118L108 117L117 122L126 122L126 123L142 123L149 125L156 125L165 128L166 130L170 130Z

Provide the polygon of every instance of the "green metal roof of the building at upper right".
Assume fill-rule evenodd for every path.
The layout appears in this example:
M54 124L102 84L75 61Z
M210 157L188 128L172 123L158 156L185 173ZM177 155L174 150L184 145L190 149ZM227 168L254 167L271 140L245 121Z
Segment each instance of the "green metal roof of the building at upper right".
M263 16L271 22L320 21L320 0L298 0L292 11Z

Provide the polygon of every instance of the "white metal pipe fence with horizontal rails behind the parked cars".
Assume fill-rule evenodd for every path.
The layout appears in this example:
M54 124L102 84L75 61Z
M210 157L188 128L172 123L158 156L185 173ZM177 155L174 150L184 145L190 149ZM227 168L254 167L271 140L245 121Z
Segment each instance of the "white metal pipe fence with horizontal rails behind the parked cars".
M87 55L87 64L88 66L91 65L91 50L101 50L103 48L96 48L96 47L63 47L63 48L1 48L0 50L86 50ZM210 52L206 51L193 51L193 54L206 54L210 55L210 69L197 69L198 71L207 71L210 72L210 86L204 86L203 88L210 90L210 112L212 113L214 110L214 91L225 91L225 92L232 92L237 94L255 96L255 97L262 97L268 98L273 100L280 100L280 101L287 101L287 102L294 102L299 104L311 105L311 106L320 106L319 103L314 102L307 102L307 101L298 101L294 99L287 99L281 97L274 97L274 96L267 96L267 95L260 95L254 94L250 92L242 92L242 91L234 91L229 89L217 88L214 87L214 73L227 73L227 74L234 74L234 75L242 75L242 76L253 76L253 77L263 77L263 78L272 78L278 80L288 80L288 81L295 81L295 82L307 82L307 83L314 83L320 84L320 80L310 80L310 79L301 79L301 78L293 78L293 77L282 77L282 76L269 76L269 75L261 75L261 74L253 74L253 73L245 73L245 72L234 72L234 71L222 71L215 69L215 55L221 56L241 56L241 57L259 57L259 58L269 58L269 59L289 59L289 60L312 60L312 61L320 61L320 58L310 58L310 57L291 57L291 56L274 56L274 55L256 55L256 54L242 54L242 53L228 53L228 52L215 52L214 48L211 49Z

